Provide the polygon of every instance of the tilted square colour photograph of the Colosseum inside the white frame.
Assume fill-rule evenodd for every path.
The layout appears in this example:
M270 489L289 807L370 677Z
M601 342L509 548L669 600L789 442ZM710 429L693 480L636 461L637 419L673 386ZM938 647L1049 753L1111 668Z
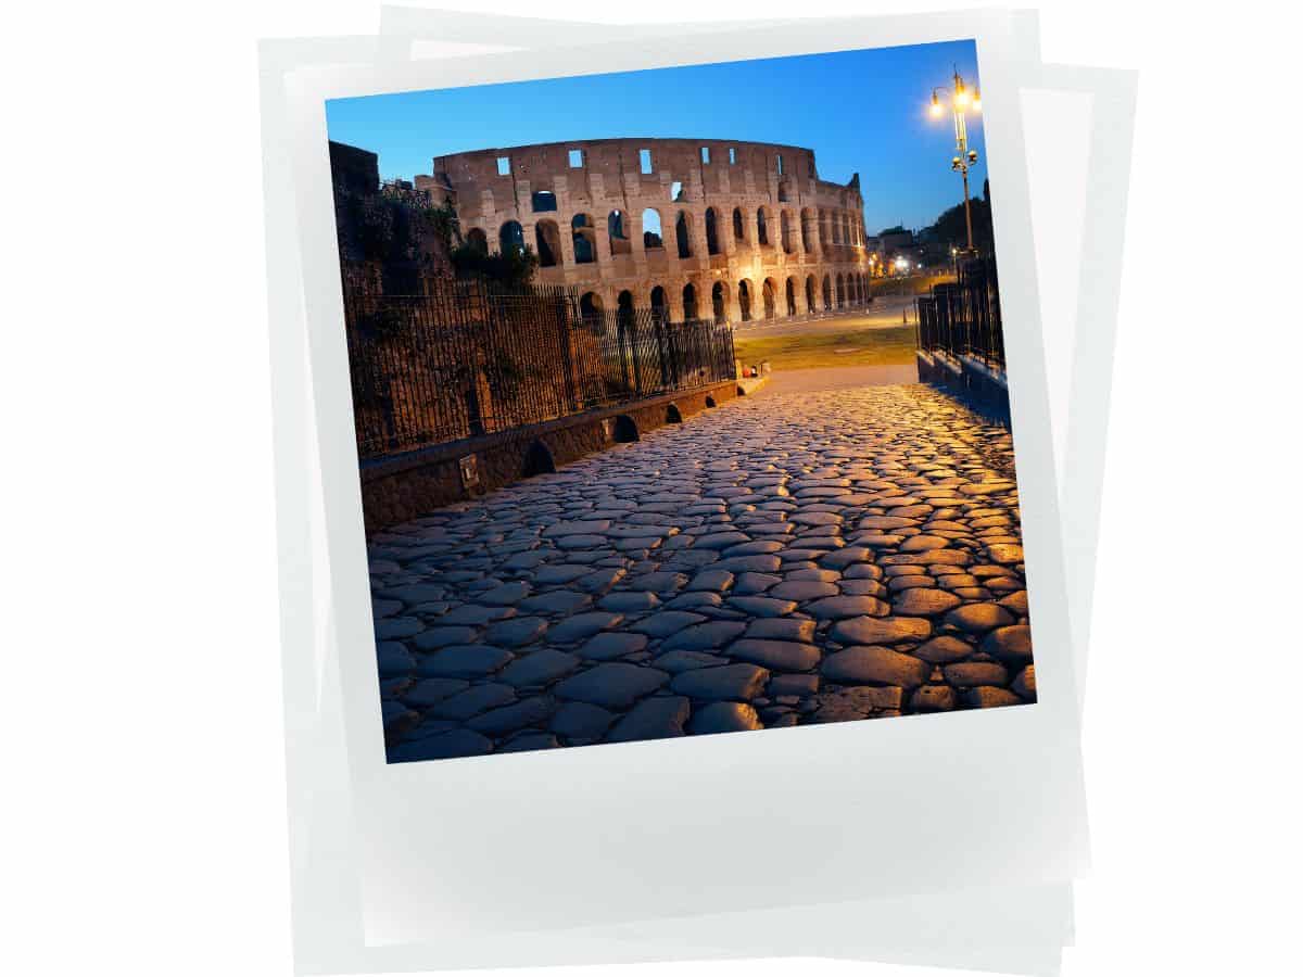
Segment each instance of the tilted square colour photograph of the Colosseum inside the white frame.
M390 762L1036 702L975 42L326 111Z

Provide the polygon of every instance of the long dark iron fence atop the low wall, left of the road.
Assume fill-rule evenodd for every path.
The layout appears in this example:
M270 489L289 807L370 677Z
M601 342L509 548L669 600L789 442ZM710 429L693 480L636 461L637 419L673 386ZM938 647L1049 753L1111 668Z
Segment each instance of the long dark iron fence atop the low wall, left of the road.
M450 281L345 305L362 460L734 378L732 331L572 290Z

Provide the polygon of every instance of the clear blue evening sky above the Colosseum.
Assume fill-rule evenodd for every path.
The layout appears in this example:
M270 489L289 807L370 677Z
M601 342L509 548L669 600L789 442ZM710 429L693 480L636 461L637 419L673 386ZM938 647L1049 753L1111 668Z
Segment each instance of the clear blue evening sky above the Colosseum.
M958 65L976 86L971 40L732 61L582 78L335 99L330 138L379 154L380 173L410 180L450 152L620 137L775 142L814 150L820 176L860 173L869 233L930 224L959 203L954 128L928 113L933 86ZM968 141L981 154L979 120Z

